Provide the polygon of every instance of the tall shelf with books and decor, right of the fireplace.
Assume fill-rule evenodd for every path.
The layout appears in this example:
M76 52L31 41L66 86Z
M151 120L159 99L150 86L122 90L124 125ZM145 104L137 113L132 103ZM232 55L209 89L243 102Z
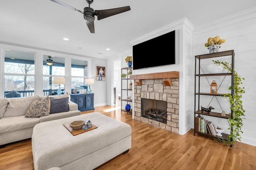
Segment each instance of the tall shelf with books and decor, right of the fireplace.
M215 57L217 57L217 58L215 58ZM207 64L209 65L209 61L212 61L212 59L231 61L231 63L233 64L232 71L228 71L228 73L223 73L223 71L216 72L216 71L209 70L207 68L208 69L208 72L207 72L206 69L203 69L203 68L207 67ZM218 101L218 100L222 101L223 99L221 99L221 98L225 97L226 94L230 94L233 96L233 92L232 92L232 89L234 87L234 78L233 78L234 71L233 70L234 70L234 50L222 51L222 52L218 52L218 53L208 53L208 54L195 56L194 135L196 135L196 133L198 133L198 134L203 134L203 135L206 135L206 136L209 136L212 138L216 138L216 139L219 138L219 139L223 139L223 140L228 140L229 134L222 133L222 136L217 135L215 128L219 127L219 126L214 126L214 124L220 125L220 124L216 123L216 121L217 121L216 118L226 119L226 120L233 118L233 111L232 111L232 109L230 109L229 105L226 105L226 103L224 103L224 102ZM214 81L209 81L209 79L212 79ZM212 85L211 82L215 83L215 80L219 80L219 82L220 82L218 88L216 85L216 91L215 91L216 93L212 92L212 86L211 86ZM223 83L223 82L225 82L225 83ZM220 86L222 88L220 88ZM229 86L231 88L230 88L230 91L227 92L226 89ZM210 93L208 93L208 92L210 92ZM219 93L217 93L217 92L219 92ZM205 106L208 105L207 107L209 107L209 105L213 99L216 99L214 104L220 106L220 108L218 108L218 109L216 109L216 107L215 107L216 112L212 112L210 110L210 112L208 113L206 111L200 110L202 105L203 105L203 107L204 107L204 105ZM210 102L210 103L208 104L206 101ZM222 105L222 107L224 105L224 107L225 107L224 110L230 109L228 111L229 114L226 114L226 113L224 114L224 111L223 111L221 105ZM218 111L222 112L223 114L218 113ZM198 119L198 117L199 117L199 119ZM222 121L220 121L220 122L222 122ZM225 125L225 126L227 127L228 125ZM227 128L224 128L224 129L227 129ZM230 128L230 133L232 133L232 131L233 131L232 128ZM226 133L229 133L229 132L226 131ZM232 147L232 145L230 145L230 146Z

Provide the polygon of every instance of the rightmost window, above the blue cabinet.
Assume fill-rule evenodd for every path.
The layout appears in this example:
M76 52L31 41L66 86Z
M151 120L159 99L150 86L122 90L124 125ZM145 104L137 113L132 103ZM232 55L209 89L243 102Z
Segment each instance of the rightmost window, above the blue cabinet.
M88 62L78 59L71 59L71 88L87 90L85 79L88 78Z

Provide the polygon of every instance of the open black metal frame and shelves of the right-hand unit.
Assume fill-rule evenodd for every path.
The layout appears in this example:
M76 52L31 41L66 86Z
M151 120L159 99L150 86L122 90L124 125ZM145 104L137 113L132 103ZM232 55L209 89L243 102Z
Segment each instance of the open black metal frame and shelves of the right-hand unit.
M226 114L226 116L222 116L221 113L216 113L216 112L210 112L207 113L205 111L201 111L200 110L200 95L206 95L206 96L224 96L224 94L212 94L212 93L202 93L200 91L200 77L207 77L207 76L231 76L231 95L233 96L234 90L234 50L229 50L229 51L222 51L222 52L217 52L217 53L208 53L208 54L204 54L204 55L196 55L195 56L195 93L194 93L194 136L196 135L196 133L198 134L202 134L202 135L206 135L209 136L211 138L222 138L224 140L227 139L228 134L224 134L222 133L222 137L220 136L215 136L215 135L211 135L209 133L204 133L204 132L197 132L196 131L196 116L197 115L207 115L210 117L218 117L218 118L222 118L222 119L229 119L231 117L231 119L233 119L233 111L231 109L230 113L231 114ZM202 59L208 59L208 58L214 58L214 57L224 57L224 56L230 56L232 57L232 72L231 73L215 73L215 74L201 74L200 73L200 61ZM197 61L198 61L198 67L197 67ZM196 101L198 101L198 106L196 106ZM233 129L230 129L230 133L232 133ZM232 138L231 138L232 140ZM230 145L232 147L232 145Z

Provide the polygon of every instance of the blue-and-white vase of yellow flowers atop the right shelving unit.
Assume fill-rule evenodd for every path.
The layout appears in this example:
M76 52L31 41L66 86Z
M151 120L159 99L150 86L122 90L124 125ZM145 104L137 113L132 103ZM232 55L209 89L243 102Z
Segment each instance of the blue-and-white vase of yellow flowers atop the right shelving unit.
M207 43L204 46L208 47L209 53L217 53L220 49L220 44L226 42L226 39L220 39L219 36L214 38L209 37Z

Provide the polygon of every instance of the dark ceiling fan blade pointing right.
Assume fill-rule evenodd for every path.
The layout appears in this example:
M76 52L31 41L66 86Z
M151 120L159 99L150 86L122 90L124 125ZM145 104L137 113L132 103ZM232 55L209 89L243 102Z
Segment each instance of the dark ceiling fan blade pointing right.
M98 17L98 20L101 20L101 19L107 18L109 16L120 14L122 12L126 12L129 10L131 10L130 6L124 6L124 7L113 8L113 9L108 9L108 10L95 10L95 12Z

